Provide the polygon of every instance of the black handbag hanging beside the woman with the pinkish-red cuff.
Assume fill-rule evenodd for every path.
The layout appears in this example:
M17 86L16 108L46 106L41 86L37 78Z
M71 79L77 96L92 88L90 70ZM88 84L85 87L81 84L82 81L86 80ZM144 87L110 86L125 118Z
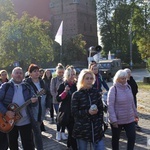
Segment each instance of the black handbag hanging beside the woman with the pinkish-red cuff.
M69 124L69 113L68 112L58 112L57 114L57 124L61 126L66 126Z

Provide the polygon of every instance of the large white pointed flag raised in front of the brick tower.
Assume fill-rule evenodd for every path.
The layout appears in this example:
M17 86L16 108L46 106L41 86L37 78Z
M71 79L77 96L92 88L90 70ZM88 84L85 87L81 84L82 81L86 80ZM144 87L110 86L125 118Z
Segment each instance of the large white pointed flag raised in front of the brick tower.
M55 41L59 43L60 46L62 46L62 34L63 34L63 21L61 21L61 24L55 36Z

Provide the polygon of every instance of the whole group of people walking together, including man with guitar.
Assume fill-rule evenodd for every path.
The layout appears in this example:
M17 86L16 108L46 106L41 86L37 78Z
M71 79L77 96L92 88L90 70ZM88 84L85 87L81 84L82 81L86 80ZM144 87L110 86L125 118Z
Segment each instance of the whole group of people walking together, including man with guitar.
M45 131L47 111L50 123L56 122L56 140L67 140L68 149L86 150L91 143L94 150L104 150L102 87L108 92L112 149L119 150L122 128L128 139L127 150L134 149L138 87L129 69L116 73L110 89L94 62L79 76L73 66L65 68L62 64L57 65L55 76L36 64L29 66L26 75L24 78L22 68L15 67L9 80L7 71L0 71L0 150L18 150L19 135L24 150L43 150L41 132Z

